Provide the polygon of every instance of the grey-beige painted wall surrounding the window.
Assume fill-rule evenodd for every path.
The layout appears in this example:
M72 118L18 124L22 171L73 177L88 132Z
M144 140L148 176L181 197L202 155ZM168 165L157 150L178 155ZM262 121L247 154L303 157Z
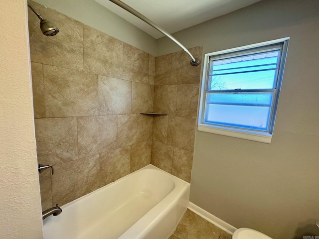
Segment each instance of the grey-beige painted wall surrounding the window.
M190 201L274 239L319 235L319 1L263 0L174 34L203 53L290 36L271 144L196 132ZM157 55L179 50L158 40Z

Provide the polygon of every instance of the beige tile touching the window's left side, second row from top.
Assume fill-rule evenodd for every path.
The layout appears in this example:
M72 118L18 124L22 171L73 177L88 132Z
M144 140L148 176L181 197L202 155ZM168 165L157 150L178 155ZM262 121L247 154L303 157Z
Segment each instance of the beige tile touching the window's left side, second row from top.
M197 117L199 84L177 85L177 103L175 116Z

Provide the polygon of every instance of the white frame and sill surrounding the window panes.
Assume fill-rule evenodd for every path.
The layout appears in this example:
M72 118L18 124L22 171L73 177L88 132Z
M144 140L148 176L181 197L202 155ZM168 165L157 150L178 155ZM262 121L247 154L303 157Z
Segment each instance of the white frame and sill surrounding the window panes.
M236 138L242 138L242 139L248 139L248 140L253 140L253 141L258 141L258 142L263 142L263 143L271 143L271 138L273 135L273 127L275 124L275 118L276 118L276 112L277 112L277 105L278 105L278 99L279 99L279 93L280 93L280 88L282 84L282 78L283 78L283 73L284 73L284 67L285 67L285 61L286 61L286 56L287 56L287 50L288 50L288 42L289 42L289 37L277 39L277 40L272 40L272 41L266 41L262 43L257 43L257 44L252 44L252 45L247 45L247 46L242 46L242 47L236 47L228 50L222 50L222 51L217 51L213 53L207 53L205 54L204 58L204 68L203 68L203 78L202 78L202 83L201 83L201 93L200 93L200 104L199 104L199 116L198 116L198 125L197 125L197 130L198 131L203 131L203 132L208 132L208 133L214 133L214 134L220 134L220 135L225 135L225 136L231 136L231 137L236 137ZM261 131L254 131L254 130L249 130L249 129L242 129L242 128L235 128L235 127L227 127L227 126L219 126L219 125L213 125L206 123L204 121L204 114L205 114L205 104L206 104L206 88L209 82L209 63L210 63L210 58L213 56L217 55L224 55L228 53L233 53L236 55L236 53L240 51L245 51L245 50L252 50L253 48L260 48L260 47L265 47L273 44L278 44L278 43L283 43L282 47L282 55L280 58L280 70L278 71L278 82L276 85L276 98L275 102L273 103L273 121L271 122L271 131L270 132L261 132ZM257 49L256 49L257 50ZM270 119L272 120L272 119Z

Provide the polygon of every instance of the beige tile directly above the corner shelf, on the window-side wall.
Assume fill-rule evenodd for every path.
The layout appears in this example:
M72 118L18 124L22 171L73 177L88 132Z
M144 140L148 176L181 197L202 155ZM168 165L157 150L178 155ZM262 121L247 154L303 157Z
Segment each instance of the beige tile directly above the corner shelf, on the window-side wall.
M174 116L176 111L176 100L176 85L154 87L154 112Z

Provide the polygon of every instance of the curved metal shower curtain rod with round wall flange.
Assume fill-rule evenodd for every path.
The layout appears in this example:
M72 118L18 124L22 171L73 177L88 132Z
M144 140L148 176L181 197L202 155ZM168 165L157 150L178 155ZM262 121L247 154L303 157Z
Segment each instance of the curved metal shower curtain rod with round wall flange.
M191 58L190 64L192 66L198 66L199 65L200 60L198 58L194 58L192 56L192 54L190 54L190 52L186 49L186 47L184 47L179 41L176 40L176 38L174 38L172 35L170 35L167 31L165 31L159 25L155 24L149 18L147 18L146 16L144 16L143 14L138 12L137 10L133 9L132 7L130 7L129 5L124 3L123 1L120 1L120 0L110 0L110 1L112 1L115 4L117 4L118 6L122 7L123 9L131 12L133 15L139 17L141 20L145 21L146 23L148 23L149 25L153 26L155 29L157 29L158 31L163 33L165 36L167 36L169 39L171 39L173 42L175 42L178 46L180 46L181 49L183 49L190 56L190 58Z

